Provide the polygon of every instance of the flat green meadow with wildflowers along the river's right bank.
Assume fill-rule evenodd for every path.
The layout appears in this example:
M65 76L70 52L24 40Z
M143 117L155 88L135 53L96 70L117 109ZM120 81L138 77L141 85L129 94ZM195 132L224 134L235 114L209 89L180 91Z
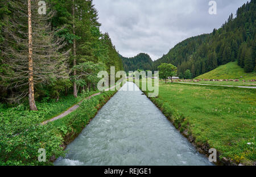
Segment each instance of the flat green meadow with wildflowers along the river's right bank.
M159 83L151 98L181 132L235 163L256 161L256 91L245 88Z

